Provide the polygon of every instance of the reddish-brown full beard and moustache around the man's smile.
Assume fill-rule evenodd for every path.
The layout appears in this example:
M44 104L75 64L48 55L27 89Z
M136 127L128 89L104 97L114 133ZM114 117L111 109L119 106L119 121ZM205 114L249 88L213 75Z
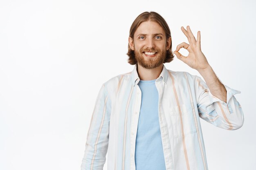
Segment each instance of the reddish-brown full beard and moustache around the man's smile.
M157 52L155 57L147 57L143 52L144 51L152 51ZM157 66L160 66L164 63L165 57L166 57L166 50L160 50L160 49L141 49L137 51L134 49L135 52L135 58L137 60L137 63L140 64L144 68L155 68Z

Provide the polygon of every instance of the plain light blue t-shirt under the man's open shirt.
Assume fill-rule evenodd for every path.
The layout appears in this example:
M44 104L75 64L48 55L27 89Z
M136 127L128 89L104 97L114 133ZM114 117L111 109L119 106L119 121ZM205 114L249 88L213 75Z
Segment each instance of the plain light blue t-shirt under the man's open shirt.
M140 80L141 108L135 144L136 170L166 170L155 80Z

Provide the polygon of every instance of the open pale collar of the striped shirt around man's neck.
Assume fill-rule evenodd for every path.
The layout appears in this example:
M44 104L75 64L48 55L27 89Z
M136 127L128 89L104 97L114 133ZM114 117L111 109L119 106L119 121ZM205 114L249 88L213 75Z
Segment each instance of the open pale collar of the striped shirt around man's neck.
M168 78L168 70L163 64L163 69L159 77L155 80L156 82L160 81L159 79L162 79L162 83L166 84ZM135 86L139 83L139 75L137 73L137 64L135 64L133 70L132 70L132 85Z

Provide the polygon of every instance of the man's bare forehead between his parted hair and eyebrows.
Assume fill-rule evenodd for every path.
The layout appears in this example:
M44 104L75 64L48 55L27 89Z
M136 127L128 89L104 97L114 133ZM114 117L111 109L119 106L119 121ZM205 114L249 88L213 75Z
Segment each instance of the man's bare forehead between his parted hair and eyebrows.
M162 33L164 34L164 29L155 21L144 21L139 24L139 27L135 31L135 36L139 34L156 34Z

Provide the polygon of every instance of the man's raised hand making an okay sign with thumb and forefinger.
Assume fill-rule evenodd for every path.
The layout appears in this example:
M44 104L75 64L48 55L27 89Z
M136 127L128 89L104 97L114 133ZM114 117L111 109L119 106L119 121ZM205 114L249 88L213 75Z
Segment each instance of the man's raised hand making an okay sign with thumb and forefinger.
M187 44L186 42L182 42L177 46L176 50L174 51L174 54L177 56L178 59L182 60L191 68L194 68L198 71L202 71L203 69L209 67L210 65L206 57L201 51L200 31L198 31L197 40L195 40L195 37L191 32L191 29L189 28L189 26L187 26L186 28L187 30L184 29L184 27L182 26L181 30L188 38L189 44ZM188 50L189 55L186 57L181 55L178 52L181 48Z

